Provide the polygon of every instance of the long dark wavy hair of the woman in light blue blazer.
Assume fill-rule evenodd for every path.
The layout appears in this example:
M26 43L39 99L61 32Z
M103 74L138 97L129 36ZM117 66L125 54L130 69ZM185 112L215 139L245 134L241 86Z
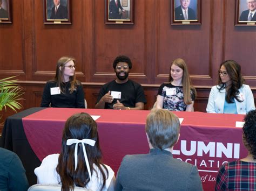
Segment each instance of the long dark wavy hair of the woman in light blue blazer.
M220 68L221 66L225 66L227 74L228 76L230 76L232 82L231 87L227 90L226 94L227 103L234 103L233 98L235 98L235 100L237 100L238 102L242 102L242 100L239 100L238 98L239 89L242 87L242 84L244 83L244 78L241 75L240 65L234 60L226 60L220 64ZM220 75L218 84L220 86L219 90L226 88L226 84L221 82Z

